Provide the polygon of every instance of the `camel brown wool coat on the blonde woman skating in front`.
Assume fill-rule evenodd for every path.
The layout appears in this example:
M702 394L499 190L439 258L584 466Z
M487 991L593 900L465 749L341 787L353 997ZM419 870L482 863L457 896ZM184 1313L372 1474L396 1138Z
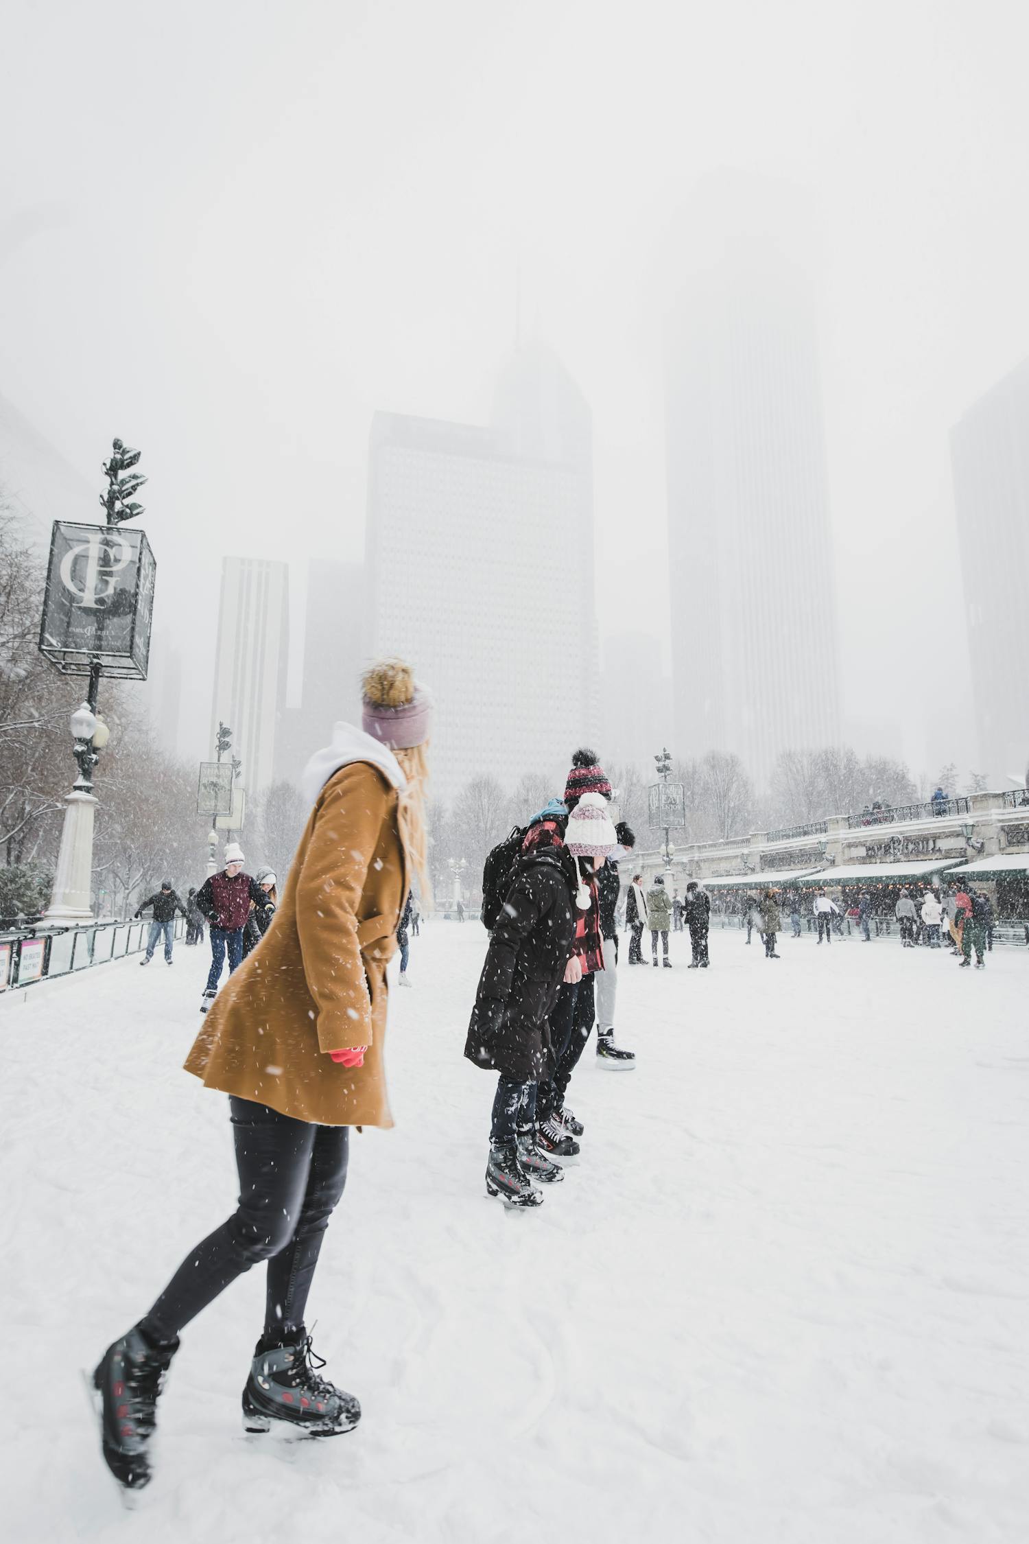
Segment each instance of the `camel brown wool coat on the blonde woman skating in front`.
M219 991L185 1067L318 1126L392 1126L386 965L407 892L396 789L367 761L322 787L275 920ZM327 1051L367 1045L363 1067Z

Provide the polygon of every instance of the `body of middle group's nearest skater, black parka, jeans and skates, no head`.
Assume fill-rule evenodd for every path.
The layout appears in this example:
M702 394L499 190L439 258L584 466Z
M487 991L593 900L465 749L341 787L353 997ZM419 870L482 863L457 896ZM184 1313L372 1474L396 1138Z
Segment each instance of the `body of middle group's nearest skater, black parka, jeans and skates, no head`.
M464 1055L498 1072L486 1189L512 1206L543 1200L531 1180L563 1178L535 1146L535 1089L551 1048L548 1016L575 942L575 863L562 820L532 821L489 939Z

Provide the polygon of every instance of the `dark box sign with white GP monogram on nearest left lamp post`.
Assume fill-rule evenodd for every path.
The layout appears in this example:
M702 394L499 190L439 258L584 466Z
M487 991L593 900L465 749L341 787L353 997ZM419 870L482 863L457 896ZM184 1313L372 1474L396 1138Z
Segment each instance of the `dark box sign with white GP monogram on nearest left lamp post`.
M40 653L63 675L145 681L156 571L145 531L54 520Z

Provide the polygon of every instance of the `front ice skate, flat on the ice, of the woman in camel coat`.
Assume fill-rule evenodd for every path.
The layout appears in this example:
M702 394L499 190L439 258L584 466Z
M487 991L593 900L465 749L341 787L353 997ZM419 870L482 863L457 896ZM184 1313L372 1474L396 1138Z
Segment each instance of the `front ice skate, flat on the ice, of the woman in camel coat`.
M326 1363L310 1336L268 1351L259 1351L242 1391L242 1428L250 1436L270 1431L273 1424L312 1437L335 1437L353 1431L361 1405L318 1370Z

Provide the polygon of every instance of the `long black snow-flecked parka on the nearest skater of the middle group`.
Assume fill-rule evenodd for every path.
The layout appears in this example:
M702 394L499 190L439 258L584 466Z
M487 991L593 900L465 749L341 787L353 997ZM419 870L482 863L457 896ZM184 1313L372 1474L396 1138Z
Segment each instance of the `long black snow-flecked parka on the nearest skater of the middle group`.
M575 942L575 865L565 848L523 852L489 939L464 1055L512 1082L538 1081L546 1024Z

